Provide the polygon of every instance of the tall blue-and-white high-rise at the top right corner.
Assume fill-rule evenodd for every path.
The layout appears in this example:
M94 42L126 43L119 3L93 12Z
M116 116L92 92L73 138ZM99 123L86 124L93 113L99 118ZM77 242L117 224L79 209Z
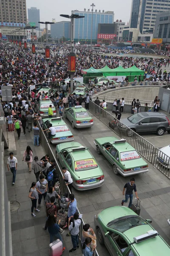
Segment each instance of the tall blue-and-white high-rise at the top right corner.
M140 33L153 32L156 15L170 10L170 0L132 0L130 28Z

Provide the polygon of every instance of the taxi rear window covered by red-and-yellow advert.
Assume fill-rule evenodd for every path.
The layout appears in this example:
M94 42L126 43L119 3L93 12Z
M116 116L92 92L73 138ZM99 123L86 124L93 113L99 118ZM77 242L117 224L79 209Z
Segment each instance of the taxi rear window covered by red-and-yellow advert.
M97 167L98 167L98 165L93 158L79 160L79 161L74 162L74 169L76 172L86 171L86 170L94 169Z

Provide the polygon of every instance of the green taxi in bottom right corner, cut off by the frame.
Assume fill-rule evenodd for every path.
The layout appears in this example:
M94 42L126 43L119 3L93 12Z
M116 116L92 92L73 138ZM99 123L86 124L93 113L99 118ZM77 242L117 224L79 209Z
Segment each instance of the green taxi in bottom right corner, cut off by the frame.
M94 217L99 243L111 256L170 255L170 246L150 223L125 206L108 207Z

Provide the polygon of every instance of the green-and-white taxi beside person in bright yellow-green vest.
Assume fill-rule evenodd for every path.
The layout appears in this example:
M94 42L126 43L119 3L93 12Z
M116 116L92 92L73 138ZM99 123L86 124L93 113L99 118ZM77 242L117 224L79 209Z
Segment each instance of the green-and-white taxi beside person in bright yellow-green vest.
M53 117L56 117L56 109L53 105L53 102L50 99L42 99L36 104L36 108L38 113L41 114L42 118L47 118L48 117L48 108L52 105L52 111L53 111Z

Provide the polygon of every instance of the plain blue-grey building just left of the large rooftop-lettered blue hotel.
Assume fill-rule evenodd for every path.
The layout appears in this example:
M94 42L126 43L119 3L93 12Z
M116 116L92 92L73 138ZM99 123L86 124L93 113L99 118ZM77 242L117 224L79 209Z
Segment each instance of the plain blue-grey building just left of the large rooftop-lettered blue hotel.
M70 21L60 21L51 24L51 38L70 38L71 35L71 22Z

